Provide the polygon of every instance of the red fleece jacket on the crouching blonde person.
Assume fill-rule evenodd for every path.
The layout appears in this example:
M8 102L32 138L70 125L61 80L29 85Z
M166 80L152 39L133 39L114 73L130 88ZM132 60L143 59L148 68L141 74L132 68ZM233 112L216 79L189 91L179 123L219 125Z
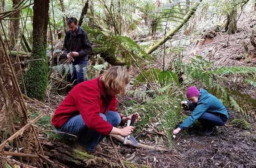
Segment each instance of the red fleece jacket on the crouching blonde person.
M79 83L69 92L51 119L55 128L61 128L67 120L80 113L89 129L103 135L111 132L113 126L99 113L106 115L109 110L116 111L117 99L116 96L106 95L99 78Z

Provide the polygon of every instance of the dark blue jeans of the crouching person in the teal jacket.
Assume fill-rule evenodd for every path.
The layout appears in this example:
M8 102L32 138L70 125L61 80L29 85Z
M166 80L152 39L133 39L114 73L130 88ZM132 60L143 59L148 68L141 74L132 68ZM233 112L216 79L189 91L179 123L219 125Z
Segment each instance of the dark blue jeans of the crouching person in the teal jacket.
M195 106L194 104L189 103L189 110L194 111ZM216 115L212 113L208 113L207 111L204 112L198 119L199 122L205 127L213 127L213 126L222 126L227 121L223 121L220 117L219 113L216 113Z

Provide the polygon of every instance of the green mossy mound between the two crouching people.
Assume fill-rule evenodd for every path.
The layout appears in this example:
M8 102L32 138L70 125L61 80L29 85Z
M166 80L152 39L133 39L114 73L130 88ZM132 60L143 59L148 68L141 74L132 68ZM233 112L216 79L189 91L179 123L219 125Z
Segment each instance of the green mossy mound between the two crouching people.
M164 133L168 139L171 139L181 106L177 99L165 96L143 105L136 105L128 110L129 114L138 112L141 116L141 121L135 124L137 133L152 127L151 124L153 124L155 130Z

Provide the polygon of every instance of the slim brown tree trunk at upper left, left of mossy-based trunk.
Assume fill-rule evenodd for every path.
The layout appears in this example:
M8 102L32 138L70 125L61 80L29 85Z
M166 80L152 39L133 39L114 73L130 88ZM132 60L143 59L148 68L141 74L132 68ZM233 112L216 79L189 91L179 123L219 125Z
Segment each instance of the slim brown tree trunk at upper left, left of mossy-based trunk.
M12 0L12 8L14 8L16 5L20 3L20 0ZM11 49L13 49L17 43L17 38L18 38L18 33L19 33L19 28L20 28L20 10L17 10L17 12L13 13L11 18L17 18L17 19L12 19L10 21L10 26L9 26L9 46Z

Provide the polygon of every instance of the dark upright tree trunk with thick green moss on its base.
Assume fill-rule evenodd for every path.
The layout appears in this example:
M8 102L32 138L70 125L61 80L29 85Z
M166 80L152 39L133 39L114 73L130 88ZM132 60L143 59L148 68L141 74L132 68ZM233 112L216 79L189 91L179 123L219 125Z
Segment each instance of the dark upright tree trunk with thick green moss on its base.
M49 21L49 1L35 0L33 11L33 49L28 71L24 76L27 94L30 98L44 99L48 85L48 56L46 54L47 26Z

